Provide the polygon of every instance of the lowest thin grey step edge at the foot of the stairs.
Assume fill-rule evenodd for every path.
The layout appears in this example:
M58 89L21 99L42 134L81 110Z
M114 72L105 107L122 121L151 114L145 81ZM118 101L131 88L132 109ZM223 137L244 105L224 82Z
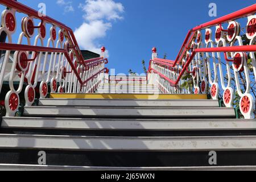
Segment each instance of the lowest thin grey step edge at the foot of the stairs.
M0 164L1 171L255 171L256 166L202 167L90 167Z

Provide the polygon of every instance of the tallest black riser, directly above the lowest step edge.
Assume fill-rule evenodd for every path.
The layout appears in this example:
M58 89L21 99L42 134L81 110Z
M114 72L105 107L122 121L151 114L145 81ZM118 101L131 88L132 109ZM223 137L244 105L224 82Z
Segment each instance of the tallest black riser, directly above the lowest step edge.
M0 150L0 163L38 164L40 150ZM214 167L209 152L77 152L44 150L46 164L94 167ZM217 166L256 166L255 151L217 151ZM148 160L150 159L150 160Z

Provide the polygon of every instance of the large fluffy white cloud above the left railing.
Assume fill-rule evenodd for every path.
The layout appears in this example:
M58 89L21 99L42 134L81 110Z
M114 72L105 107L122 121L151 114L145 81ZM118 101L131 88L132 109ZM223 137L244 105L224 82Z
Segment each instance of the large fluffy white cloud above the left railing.
M79 8L84 12L84 22L75 30L77 42L82 49L100 53L100 47L104 45L97 40L106 36L113 20L123 19L124 7L113 0L86 0L84 4L80 3Z

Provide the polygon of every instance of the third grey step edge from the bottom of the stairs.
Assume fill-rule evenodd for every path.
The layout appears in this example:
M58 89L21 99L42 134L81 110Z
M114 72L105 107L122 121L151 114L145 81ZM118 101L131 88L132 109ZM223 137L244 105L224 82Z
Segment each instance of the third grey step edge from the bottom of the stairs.
M255 119L82 119L3 117L2 129L231 131L256 130Z

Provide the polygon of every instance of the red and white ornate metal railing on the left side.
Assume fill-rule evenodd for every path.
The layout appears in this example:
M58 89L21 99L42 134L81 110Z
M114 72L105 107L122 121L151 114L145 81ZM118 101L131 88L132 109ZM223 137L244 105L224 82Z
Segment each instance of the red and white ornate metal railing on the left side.
M105 47L101 49L101 57L84 60L71 28L22 3L0 0L0 4L6 6L0 28L0 35L7 38L0 43L0 50L5 50L0 67L0 90L1 94L6 94L6 115L13 116L18 110L19 94L24 93L29 106L34 103L36 92L40 98L47 97L50 92L92 93L104 82L104 72L108 72ZM18 14L25 16L18 21ZM17 31L19 24L22 25L20 32ZM14 43L17 36L18 42ZM14 85L17 77L18 88ZM10 91L3 93L6 80ZM24 85L27 85L25 90Z

